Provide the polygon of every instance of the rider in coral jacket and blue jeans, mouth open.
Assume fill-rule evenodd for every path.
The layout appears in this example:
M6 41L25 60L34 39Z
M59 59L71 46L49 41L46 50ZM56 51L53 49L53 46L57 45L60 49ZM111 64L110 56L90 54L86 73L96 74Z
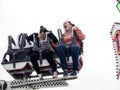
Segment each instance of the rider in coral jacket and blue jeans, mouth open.
M82 31L75 26L70 21L66 21L63 23L63 27L65 29L65 33L62 34L63 44L59 44L57 46L57 55L60 58L61 67L63 69L63 77L68 76L68 64L67 64L67 45L69 47L69 53L72 56L73 61L73 71L70 73L70 76L76 76L78 71L78 58L81 54L81 42L85 39L85 35ZM75 32L75 44L72 44L72 34Z

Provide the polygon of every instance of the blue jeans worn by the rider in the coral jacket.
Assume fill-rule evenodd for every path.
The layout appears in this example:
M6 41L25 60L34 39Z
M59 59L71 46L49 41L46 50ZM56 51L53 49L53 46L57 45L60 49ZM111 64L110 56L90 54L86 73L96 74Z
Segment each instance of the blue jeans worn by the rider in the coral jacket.
M78 58L80 54L80 47L77 45L71 45L69 47L69 53L72 56L73 61L73 71L78 70ZM60 44L57 47L57 55L60 58L61 67L63 70L68 69L66 57L67 57L67 47L64 44Z

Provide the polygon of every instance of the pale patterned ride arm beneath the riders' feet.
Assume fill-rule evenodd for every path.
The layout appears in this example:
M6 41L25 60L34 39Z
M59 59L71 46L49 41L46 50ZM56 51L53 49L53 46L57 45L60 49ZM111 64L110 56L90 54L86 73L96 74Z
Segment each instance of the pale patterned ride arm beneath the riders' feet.
M40 88L52 88L52 87L66 87L68 83L66 80L76 79L77 76L58 77L58 78L46 78L40 79L28 79L28 80L13 80L13 81L0 81L0 90L36 90ZM6 85L5 85L6 83Z

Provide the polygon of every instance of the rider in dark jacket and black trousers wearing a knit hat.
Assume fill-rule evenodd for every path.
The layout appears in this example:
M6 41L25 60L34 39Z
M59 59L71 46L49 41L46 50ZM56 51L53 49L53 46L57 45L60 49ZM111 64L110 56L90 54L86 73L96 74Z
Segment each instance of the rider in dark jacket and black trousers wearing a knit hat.
M52 68L52 71L53 71L53 78L57 78L57 65L56 65L56 62L55 60L53 59L53 54L54 52L56 51L56 44L58 42L58 39L56 38L56 36L51 32L51 31L48 31L44 26L40 26L40 31L39 33L33 33L31 34L28 39L30 41L34 41L33 40L33 37L35 36L35 39L37 41L37 46L40 47L40 45L42 46L45 46L44 43L42 41L45 40L46 38L46 33L47 34L47 37L49 38L49 41L50 41L50 49L45 49L43 52L42 52L42 57L47 59L48 63L50 64L50 67ZM47 47L46 47L47 48ZM39 67L39 64L38 64L38 59L39 59L39 52L38 51L32 51L32 53L30 54L30 60L31 60L31 63L38 75L38 77L40 79L43 79L43 75L40 71L40 67Z

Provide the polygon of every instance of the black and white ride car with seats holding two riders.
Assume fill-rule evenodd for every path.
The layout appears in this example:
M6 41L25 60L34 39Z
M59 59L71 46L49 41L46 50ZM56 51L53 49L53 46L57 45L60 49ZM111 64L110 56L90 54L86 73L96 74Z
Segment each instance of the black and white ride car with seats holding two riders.
M60 29L58 29L58 35L59 35L59 43L61 43L61 30ZM18 36L18 40L16 43L12 36L8 36L8 49L3 56L3 60L1 64L4 67L4 69L14 79L28 79L32 77L37 77L37 75L32 74L34 71L34 68L30 62L29 55L32 52L32 50L39 50L39 53L42 54L41 50L43 50L43 48L39 48L36 46L36 40L35 40L34 35L33 35L34 42L30 42L27 37L28 35L26 33L21 33ZM45 48L48 48L49 46L48 38L46 39L45 42L46 42ZM60 60L58 56L55 54L53 57L57 63L57 68L61 69ZM46 59L41 58L41 60L38 60L38 62L39 62L39 67L40 67L40 70L43 76L52 75L52 70ZM72 71L71 56L68 56L67 63L68 63L68 68L69 68L68 72L71 72ZM78 63L79 63L78 67L80 70L83 66L83 60L81 56L78 60ZM58 75L62 73L63 73L62 70L58 70Z

